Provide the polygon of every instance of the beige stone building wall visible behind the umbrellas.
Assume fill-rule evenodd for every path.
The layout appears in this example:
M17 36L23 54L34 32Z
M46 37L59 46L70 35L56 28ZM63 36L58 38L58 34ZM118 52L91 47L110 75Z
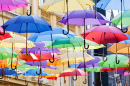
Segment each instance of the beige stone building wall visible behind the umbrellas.
M40 9L39 2L38 2L39 0L27 0L27 1L30 2L30 4L32 4L32 15L42 17L43 19L48 21L51 24L51 26L53 26L53 27L66 28L66 25L63 25L63 24L57 22L62 17L61 15L57 15L57 14L51 13L51 12L45 12L44 10ZM5 22L12 17L18 16L18 15L26 15L27 10L30 10L29 6L18 8L18 9L11 11L11 12L4 12ZM1 12L0 12L0 25L3 25L2 19L1 19ZM81 26L70 25L70 30L73 31L77 35L80 35L82 33ZM15 34L18 34L18 33L15 33ZM29 33L28 37L31 36L31 34L32 33ZM19 34L19 35L25 36L24 33ZM64 78L62 78L62 84L64 83L63 79ZM72 81L71 77L70 78L66 77L65 79L66 79L66 83L64 83L62 86L87 86L87 85L83 85L83 81L84 81L83 76L78 77L78 80L75 82ZM71 82L71 84L69 84L70 82ZM49 83L54 85L54 86L60 86L59 79L58 79L58 82L50 80Z

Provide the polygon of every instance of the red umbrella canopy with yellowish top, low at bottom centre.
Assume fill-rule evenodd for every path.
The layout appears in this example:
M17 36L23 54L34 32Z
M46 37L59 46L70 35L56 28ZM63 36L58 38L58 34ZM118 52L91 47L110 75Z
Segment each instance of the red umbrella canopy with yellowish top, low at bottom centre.
M76 74L77 72L77 74ZM81 69L73 69L73 68L70 68L68 70L65 70L63 71L59 77L69 77L69 76L88 76L88 73L84 72L83 70Z

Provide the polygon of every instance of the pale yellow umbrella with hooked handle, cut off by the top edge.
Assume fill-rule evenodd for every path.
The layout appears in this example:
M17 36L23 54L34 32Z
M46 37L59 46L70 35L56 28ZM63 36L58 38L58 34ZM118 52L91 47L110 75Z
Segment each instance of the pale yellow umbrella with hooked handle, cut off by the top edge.
M45 3L41 6L45 11L53 11L53 12L67 12L67 29L68 32L63 34L67 35L69 33L69 22L68 22L68 12L73 10L85 10L90 6L94 5L94 2L91 0L60 0L61 2L57 2L54 0L51 2L50 0L45 1ZM57 3L56 3L57 2ZM48 4L46 4L48 3ZM89 5L86 5L89 4ZM74 6L74 7L72 7Z

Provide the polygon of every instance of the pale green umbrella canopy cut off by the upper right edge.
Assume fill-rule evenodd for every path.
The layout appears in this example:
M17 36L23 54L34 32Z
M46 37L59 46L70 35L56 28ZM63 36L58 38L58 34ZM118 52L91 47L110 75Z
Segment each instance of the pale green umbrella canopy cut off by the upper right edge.
M130 10L124 11L122 13L122 24L123 25L130 25ZM116 17L111 20L112 23L116 25L121 25L121 13L119 13Z

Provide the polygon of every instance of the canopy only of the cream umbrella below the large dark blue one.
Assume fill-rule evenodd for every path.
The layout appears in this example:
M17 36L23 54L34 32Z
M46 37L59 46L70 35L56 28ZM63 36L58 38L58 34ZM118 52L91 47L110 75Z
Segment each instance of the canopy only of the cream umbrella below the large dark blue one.
M10 34L12 38L4 39L1 41L1 47L12 47L13 48L25 48L26 47L26 38L17 34ZM32 48L35 45L31 41L27 41L28 48Z

